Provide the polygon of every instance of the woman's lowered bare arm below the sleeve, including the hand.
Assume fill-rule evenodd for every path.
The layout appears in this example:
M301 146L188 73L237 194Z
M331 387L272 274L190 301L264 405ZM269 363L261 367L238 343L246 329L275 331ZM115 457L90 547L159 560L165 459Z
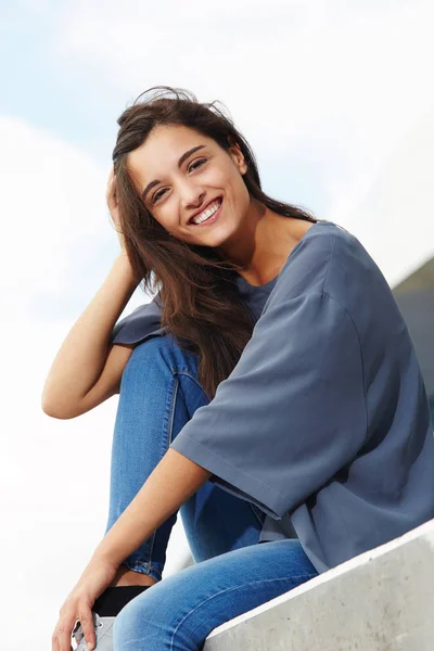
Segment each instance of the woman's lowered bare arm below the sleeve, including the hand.
M135 499L94 551L61 609L52 651L69 651L71 634L80 621L89 649L95 644L91 608L113 580L117 567L212 476L176 450L168 449Z

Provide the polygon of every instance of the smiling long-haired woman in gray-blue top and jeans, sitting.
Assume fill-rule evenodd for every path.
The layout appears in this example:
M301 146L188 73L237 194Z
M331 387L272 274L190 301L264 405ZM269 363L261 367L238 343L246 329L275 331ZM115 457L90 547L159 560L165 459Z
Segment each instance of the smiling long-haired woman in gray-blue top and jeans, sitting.
M267 196L213 104L162 91L118 120L122 253L44 387L58 418L119 393L107 532L54 651L76 621L80 649L95 631L102 651L202 649L434 516L426 392L380 269L344 229ZM154 302L114 327L142 279ZM179 509L195 564L161 580Z

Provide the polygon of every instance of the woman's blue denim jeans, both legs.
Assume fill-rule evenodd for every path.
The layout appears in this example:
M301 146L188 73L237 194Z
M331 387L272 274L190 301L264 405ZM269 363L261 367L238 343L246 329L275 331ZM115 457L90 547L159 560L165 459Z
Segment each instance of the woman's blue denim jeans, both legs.
M120 383L107 529L194 411L208 401L197 381L196 355L182 350L171 335L133 349ZM265 513L210 482L180 513L195 564L162 580L174 513L125 560L157 583L116 617L115 651L202 649L224 622L317 576L297 539L259 545Z

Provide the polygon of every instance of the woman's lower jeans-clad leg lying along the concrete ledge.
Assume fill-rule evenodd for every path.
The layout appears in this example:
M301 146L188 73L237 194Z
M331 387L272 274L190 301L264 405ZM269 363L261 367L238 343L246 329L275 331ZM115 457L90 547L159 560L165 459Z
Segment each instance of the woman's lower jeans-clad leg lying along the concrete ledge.
M229 551L132 599L114 624L115 651L199 651L209 633L317 576L297 539Z

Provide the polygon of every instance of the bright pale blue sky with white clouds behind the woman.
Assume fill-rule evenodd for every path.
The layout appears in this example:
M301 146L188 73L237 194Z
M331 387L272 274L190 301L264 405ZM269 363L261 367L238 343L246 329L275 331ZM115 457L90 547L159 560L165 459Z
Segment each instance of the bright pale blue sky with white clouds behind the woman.
M117 117L152 86L219 100L265 191L360 237L393 284L433 254L422 209L434 150L431 14L419 0L0 0L9 651L49 648L105 528L117 397L68 421L44 414L40 397L118 253L104 199ZM396 219L418 202L418 237L404 237ZM124 314L143 302L138 290ZM179 518L167 575L186 554Z

